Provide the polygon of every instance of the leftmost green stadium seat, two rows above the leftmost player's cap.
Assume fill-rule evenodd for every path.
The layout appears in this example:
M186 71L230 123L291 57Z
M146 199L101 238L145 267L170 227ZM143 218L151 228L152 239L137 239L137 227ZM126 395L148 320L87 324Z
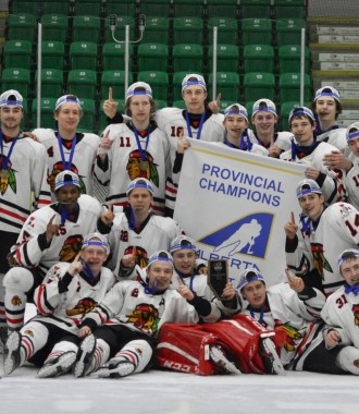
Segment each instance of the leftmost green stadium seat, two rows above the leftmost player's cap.
M8 40L3 46L4 68L32 68L33 42L29 40Z

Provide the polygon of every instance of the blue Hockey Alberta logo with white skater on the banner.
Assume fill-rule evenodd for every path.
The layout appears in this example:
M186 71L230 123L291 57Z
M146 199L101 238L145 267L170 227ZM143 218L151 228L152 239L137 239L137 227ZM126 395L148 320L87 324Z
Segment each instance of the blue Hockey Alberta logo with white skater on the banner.
M264 258L274 215L257 212L245 216L198 241L214 247L213 252L223 252L224 256L236 253Z

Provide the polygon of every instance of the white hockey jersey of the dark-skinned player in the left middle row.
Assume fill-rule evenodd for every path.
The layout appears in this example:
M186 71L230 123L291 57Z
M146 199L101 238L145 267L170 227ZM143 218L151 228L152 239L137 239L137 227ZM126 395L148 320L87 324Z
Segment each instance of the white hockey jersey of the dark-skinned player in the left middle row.
M97 220L102 212L100 203L83 194L78 198L79 212L75 222L65 220L61 224L58 204L51 204L34 211L26 220L16 244L11 248L15 263L27 268L39 267L45 273L58 261L73 261L82 248L86 234L97 229ZM40 247L41 234L54 216L53 223L60 224L59 233L53 236L48 247Z

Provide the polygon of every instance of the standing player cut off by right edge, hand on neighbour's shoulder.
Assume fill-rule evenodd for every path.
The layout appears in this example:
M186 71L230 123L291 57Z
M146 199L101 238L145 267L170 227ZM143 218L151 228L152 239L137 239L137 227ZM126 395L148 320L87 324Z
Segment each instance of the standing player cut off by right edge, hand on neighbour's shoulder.
M339 150L324 156L324 165L331 169L345 171L344 184L346 186L348 203L359 209L359 122L350 124L346 130L349 154L346 157Z

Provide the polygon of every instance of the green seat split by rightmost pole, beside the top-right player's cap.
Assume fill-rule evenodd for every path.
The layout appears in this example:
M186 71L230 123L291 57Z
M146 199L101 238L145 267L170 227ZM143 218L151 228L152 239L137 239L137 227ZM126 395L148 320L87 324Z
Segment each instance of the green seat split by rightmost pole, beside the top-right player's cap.
M283 73L280 75L280 101L300 99L300 73ZM305 74L305 100L311 98L311 80L309 74Z

